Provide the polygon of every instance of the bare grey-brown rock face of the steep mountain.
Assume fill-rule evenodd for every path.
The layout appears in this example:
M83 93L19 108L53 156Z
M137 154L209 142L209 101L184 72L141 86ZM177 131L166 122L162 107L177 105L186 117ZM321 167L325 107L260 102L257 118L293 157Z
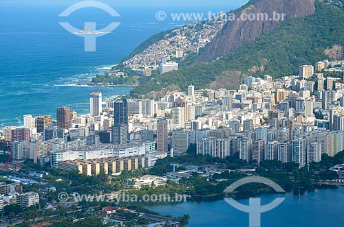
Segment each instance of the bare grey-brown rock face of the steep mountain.
M252 43L264 32L275 29L282 19L277 16L285 14L283 20L290 20L297 17L308 16L315 12L315 0L261 0L251 3L247 8L237 12L235 18L239 20L228 21L226 27L208 45L198 58L199 62L208 62L224 56L230 51ZM269 20L241 20L241 15L259 14L268 15ZM272 19L272 20L270 20Z

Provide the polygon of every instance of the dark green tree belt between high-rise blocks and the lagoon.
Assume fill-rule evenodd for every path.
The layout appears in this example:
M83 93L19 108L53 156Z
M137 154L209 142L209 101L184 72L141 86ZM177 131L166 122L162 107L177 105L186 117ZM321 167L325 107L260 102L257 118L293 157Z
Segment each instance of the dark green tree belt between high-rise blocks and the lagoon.
M311 163L310 167L303 167L299 169L296 163L281 163L275 160L266 160L261 162L259 166L255 163L246 163L246 161L239 160L237 156L228 156L225 159L214 158L212 156L196 155L195 152L189 150L186 156L168 157L160 159L155 163L155 166L149 170L138 170L133 172L123 172L121 180L115 184L120 185L123 180L127 178L138 178L144 174L152 174L156 176L164 176L169 171L172 171L172 164L180 165L211 165L226 169L241 169L241 168L257 168L257 174L270 178L281 185L286 191L294 191L294 193L304 193L305 191L312 191L315 188L321 188L314 184L314 180L332 180L338 178L338 174L330 171L329 168L340 163L344 163L344 152L336 154L334 157L323 154L320 163ZM183 170L184 167L180 167ZM202 168L201 168L202 170ZM175 193L195 195L195 196L213 196L220 195L230 184L244 178L246 174L241 174L236 171L224 171L222 174L213 174L211 178L207 179L194 173L190 178L182 178L179 183L168 180L163 186L154 187L154 185L146 185L138 190L132 190L127 187L128 193L142 197L145 194L170 194ZM125 189L124 186L119 187ZM264 185L248 184L246 187L239 189L241 197L247 197L255 193L270 192L270 189Z

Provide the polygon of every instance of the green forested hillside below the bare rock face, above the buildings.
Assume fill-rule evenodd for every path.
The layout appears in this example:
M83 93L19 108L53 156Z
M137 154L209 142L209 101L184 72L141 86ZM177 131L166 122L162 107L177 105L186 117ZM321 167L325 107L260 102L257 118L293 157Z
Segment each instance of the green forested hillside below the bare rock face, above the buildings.
M328 58L325 49L344 45L344 11L325 3L316 2L316 13L304 18L284 21L272 32L262 34L254 43L245 45L228 56L213 62L197 63L191 67L160 75L133 89L131 95L140 97L178 85L186 91L190 84L206 88L225 71L241 71L248 75L273 77L294 75L301 64L314 64ZM195 58L195 56L193 56ZM252 72L252 67L264 71Z

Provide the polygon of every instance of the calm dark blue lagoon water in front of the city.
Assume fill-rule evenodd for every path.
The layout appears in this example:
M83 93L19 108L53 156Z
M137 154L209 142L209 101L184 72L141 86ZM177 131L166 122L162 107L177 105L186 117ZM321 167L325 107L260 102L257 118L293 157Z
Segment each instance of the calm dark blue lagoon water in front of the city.
M262 195L261 204L268 204L281 195ZM248 204L248 200L238 200ZM266 227L328 227L343 226L344 187L321 189L305 195L287 194L282 204L261 214L261 226ZM184 202L146 206L162 215L180 217L189 214L189 227L245 227L248 213L236 210L225 200Z

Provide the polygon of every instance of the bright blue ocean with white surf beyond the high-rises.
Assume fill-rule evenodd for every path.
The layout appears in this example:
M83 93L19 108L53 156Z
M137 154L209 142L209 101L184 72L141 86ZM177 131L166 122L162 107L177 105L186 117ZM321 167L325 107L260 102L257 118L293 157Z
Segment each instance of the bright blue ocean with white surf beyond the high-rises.
M76 86L88 82L127 56L153 34L180 26L182 21L158 21L155 13L221 12L233 7L142 8L116 7L121 16L87 8L68 18L58 15L69 5L11 5L0 3L0 128L19 126L23 115L55 115L56 107L71 106L89 112L89 93L101 91L105 99L129 93L130 86ZM97 29L111 22L120 26L97 39L97 51L85 52L84 40L65 31L58 22L84 28L94 21Z

